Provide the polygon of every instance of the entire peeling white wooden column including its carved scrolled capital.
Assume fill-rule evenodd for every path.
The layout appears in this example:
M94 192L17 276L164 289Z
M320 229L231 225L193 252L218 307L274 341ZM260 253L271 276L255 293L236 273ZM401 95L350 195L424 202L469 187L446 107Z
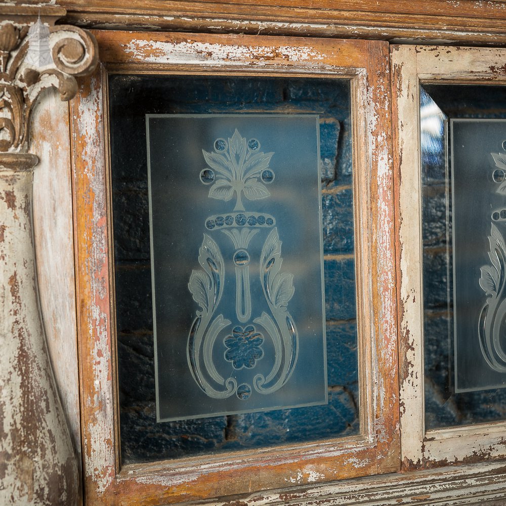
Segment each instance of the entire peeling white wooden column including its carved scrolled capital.
M0 503L76 504L78 463L38 309L31 217L38 159L27 151L41 91L55 87L62 100L73 98L74 76L95 68L97 46L86 30L38 20L39 31L28 33L29 18L13 19L0 18ZM35 47L30 35L46 39ZM53 63L30 63L44 47L51 58L39 63Z

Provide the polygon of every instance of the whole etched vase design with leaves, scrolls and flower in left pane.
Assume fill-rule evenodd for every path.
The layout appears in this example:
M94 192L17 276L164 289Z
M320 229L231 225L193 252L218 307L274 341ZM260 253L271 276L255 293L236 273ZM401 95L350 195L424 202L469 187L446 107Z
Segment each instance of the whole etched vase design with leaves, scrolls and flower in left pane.
M267 185L275 178L270 167L274 152L260 151L257 139L247 140L235 130L232 137L216 139L212 151L202 153L207 167L199 178L209 186L208 196L225 202L235 196L236 200L232 210L225 208L203 220L206 233L198 258L202 269L192 271L188 284L199 309L188 335L187 359L195 382L209 397L225 399L235 393L247 401L255 392L266 395L282 388L298 357L297 326L288 312L295 288L292 274L281 271L276 219L246 210L242 201L270 196ZM256 259L251 254L254 241L263 241L253 248ZM219 244L232 249L230 259L225 260ZM225 280L226 262L235 280ZM258 270L251 271L255 263ZM258 287L256 300L252 284ZM235 299L235 305L220 305L224 290L230 289L232 294L225 299ZM239 323L231 328L234 320ZM244 379L247 383L241 383Z

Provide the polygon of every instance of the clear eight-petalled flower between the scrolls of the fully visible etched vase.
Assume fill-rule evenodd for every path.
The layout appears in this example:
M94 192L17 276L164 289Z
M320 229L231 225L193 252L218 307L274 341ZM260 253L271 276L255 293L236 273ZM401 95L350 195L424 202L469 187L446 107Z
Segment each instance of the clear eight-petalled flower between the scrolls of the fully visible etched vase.
M264 356L264 338L260 332L255 331L253 325L245 328L237 325L232 329L232 335L224 339L224 343L227 347L225 359L232 362L234 369L252 369L256 361Z

